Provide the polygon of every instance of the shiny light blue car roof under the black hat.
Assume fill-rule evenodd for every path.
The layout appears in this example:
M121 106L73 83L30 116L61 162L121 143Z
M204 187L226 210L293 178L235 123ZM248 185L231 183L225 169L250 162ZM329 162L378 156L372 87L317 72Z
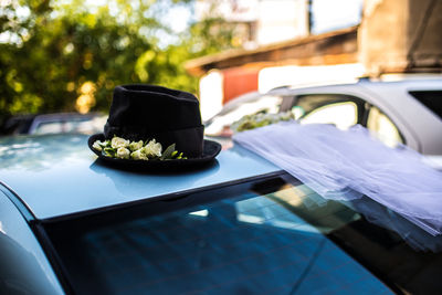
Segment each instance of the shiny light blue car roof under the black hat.
M88 149L85 135L0 139L0 182L35 219L108 210L273 173L281 169L238 146L221 151L204 169L156 173L104 166Z

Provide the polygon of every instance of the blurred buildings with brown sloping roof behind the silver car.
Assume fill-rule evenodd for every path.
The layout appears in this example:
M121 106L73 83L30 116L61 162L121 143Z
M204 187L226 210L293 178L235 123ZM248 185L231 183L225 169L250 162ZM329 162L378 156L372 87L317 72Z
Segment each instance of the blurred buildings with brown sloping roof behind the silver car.
M200 0L197 12L242 28L243 49L186 65L201 77L203 118L250 91L442 69L438 0Z

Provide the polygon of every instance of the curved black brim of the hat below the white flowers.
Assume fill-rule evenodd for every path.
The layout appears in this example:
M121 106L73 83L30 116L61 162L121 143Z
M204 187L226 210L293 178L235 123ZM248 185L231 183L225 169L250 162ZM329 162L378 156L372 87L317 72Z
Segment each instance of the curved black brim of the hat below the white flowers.
M221 151L221 145L217 141L207 140L203 141L203 151L199 158L188 158L188 159L172 159L172 160L130 160L130 159L117 159L110 158L102 155L101 151L94 149L92 146L96 140L105 140L104 134L94 134L88 140L87 145L90 149L98 156L98 158L108 165L117 168L135 168L135 169L186 169L192 167L201 167L210 164Z

